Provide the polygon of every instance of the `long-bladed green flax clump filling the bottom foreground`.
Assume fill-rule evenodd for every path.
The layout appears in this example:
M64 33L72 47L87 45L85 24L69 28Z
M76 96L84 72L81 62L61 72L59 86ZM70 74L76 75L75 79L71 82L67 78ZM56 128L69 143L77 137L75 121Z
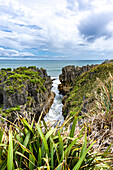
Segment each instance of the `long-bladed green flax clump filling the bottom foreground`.
M71 119L67 118L55 128L44 120L42 125L41 121L30 123L24 118L19 118L18 126L10 122L8 132L1 127L0 169L96 169L104 161L103 165L108 168L106 155L92 151L95 141L87 141L85 129L75 134L77 116L69 130L67 124Z

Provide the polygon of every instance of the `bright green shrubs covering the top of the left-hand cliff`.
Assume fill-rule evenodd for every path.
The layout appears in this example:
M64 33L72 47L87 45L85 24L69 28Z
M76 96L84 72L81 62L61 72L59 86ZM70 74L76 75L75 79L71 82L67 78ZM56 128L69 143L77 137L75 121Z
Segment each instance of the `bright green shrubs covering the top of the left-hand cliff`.
M5 95L7 103L8 100L19 101L22 99L23 101L20 103L25 104L27 96L35 95L36 98L37 93L43 94L46 89L46 77L43 78L42 68L39 70L36 66L30 66L28 68L19 67L13 71L10 68L0 70L0 94ZM16 104L18 102L9 104L8 107L15 107Z

